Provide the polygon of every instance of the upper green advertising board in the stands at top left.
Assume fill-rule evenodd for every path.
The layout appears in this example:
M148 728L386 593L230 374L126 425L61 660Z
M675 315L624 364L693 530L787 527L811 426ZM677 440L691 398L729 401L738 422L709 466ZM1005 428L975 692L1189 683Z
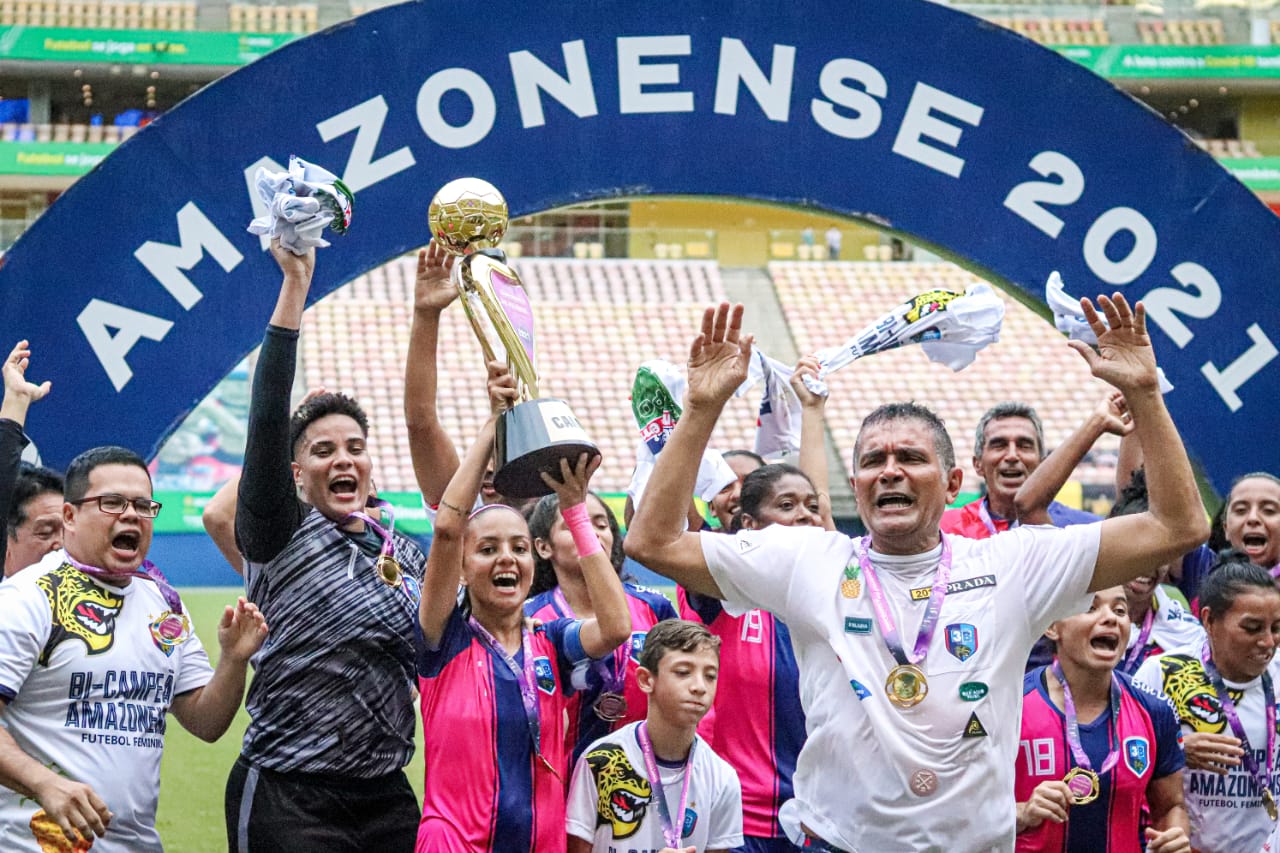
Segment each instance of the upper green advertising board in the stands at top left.
M294 33L0 27L0 60L244 65L294 38Z

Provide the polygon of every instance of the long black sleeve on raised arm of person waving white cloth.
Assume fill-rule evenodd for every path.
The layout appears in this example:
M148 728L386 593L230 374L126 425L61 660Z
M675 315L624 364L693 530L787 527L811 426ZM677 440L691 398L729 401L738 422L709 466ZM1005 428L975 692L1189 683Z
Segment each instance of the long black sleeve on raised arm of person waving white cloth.
M306 514L289 469L289 394L297 351L296 329L266 327L253 371L244 469L236 505L236 540L241 553L253 562L269 562L279 555Z

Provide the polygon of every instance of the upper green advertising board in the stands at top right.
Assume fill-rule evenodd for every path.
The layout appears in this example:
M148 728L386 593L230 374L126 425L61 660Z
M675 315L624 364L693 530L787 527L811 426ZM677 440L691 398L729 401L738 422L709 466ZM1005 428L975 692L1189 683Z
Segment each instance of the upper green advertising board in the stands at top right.
M1055 50L1107 79L1280 77L1276 45L1110 45Z

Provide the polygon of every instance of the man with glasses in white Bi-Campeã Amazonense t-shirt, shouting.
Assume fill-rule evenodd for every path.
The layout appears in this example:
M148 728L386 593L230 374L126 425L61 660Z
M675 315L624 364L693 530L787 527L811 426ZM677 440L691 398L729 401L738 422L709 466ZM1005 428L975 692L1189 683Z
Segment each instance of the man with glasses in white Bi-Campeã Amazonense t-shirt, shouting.
M143 562L160 505L132 451L81 453L65 497L65 549L0 585L0 850L77 836L77 850L160 850L168 712L216 740L266 625L243 598L227 607L209 666L177 592Z

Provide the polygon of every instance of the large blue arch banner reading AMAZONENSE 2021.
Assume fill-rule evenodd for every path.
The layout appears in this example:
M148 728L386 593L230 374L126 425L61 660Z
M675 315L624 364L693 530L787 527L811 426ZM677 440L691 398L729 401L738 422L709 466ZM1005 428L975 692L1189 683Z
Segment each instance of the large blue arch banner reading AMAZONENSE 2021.
M422 245L431 193L462 175L517 216L648 193L805 205L1036 298L1056 269L1073 293L1146 300L1170 407L1215 485L1280 467L1280 220L1103 79L924 0L489 12L406 3L285 45L35 223L0 268L0 341L31 338L55 382L28 429L46 460L155 452L257 343L278 273L244 232L248 178L297 154L357 196L312 298Z

